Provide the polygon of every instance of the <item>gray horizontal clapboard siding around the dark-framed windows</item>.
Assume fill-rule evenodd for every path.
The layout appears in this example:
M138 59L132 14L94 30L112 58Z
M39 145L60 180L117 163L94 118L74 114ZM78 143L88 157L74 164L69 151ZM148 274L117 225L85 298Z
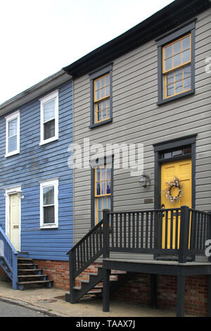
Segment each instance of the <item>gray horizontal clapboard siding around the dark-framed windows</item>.
M210 9L196 21L195 94L162 106L158 102L158 48L152 40L113 61L113 123L89 129L89 75L74 82L74 137L83 144L138 144L144 146L144 170L151 186L143 189L139 177L130 170L115 169L113 209L115 211L154 208L153 144L197 134L196 137L196 208L211 209L211 75L205 73L205 58L210 56ZM91 227L91 170L74 170L74 242ZM153 203L145 204L144 199ZM122 254L118 254L122 256ZM132 255L131 255L132 256ZM133 255L133 258L140 256Z

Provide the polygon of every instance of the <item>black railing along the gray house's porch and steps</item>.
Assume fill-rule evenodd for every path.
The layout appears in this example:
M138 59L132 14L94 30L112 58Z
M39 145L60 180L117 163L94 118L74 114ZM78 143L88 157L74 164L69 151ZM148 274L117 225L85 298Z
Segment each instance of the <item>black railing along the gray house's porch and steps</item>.
M111 252L157 257L167 254L186 263L188 256L205 255L207 239L211 239L211 214L187 206L148 211L104 210L103 220L68 252L70 296L75 278L100 256L109 258Z

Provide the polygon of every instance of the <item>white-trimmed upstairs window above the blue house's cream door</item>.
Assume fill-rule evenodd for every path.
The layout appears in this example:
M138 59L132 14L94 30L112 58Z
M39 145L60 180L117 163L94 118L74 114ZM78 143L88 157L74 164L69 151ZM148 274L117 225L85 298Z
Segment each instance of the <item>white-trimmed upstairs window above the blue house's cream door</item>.
M6 157L20 153L20 111L6 116Z

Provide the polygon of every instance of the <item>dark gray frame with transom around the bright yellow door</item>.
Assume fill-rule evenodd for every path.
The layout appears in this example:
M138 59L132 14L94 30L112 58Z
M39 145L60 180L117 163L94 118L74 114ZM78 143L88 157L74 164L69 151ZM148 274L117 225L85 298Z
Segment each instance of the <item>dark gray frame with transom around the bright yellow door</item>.
M167 142L159 142L157 144L153 144L154 152L155 152L155 209L160 209L160 191L161 191L161 165L163 163L168 163L171 161L183 160L185 158L191 158L192 163L192 206L191 208L195 208L196 206L196 137L195 135L189 135L186 137L181 137L177 139L168 140ZM177 149L179 147L191 146L191 153L183 156L176 156L174 158L166 158L162 159L161 154L163 151L168 149Z

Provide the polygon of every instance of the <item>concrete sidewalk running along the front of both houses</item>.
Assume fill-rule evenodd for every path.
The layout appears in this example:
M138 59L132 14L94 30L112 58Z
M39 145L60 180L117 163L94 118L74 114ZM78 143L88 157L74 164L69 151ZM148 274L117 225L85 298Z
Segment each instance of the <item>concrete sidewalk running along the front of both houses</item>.
M35 311L57 317L174 317L175 311L162 311L151 309L140 304L129 304L119 300L110 301L110 312L103 313L102 299L95 296L87 296L80 299L77 304L65 301L65 293L62 289L36 288L14 290L11 282L0 277L0 299L19 304ZM0 312L1 316L1 312Z

